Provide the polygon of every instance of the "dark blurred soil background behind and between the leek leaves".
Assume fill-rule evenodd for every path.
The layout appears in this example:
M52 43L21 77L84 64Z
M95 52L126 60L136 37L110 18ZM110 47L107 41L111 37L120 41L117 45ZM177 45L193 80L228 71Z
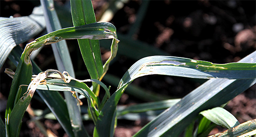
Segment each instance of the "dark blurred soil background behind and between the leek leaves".
M225 64L237 62L256 50L255 0L92 0L92 4L97 21L114 24L120 40L118 55L110 64L108 75L102 80L107 86L111 85L112 93L128 68L145 56L179 56ZM0 16L28 16L39 5L39 0L0 0ZM55 0L55 9L63 28L73 26L68 0ZM34 39L45 33L46 30ZM19 46L24 48L30 41ZM100 40L103 62L110 56L110 42ZM67 40L67 43L76 78L89 79L77 41ZM51 46L42 48L33 59L43 71L57 69ZM2 120L12 81L3 73L5 68L15 70L16 67L8 59L0 70ZM119 104L182 98L204 81L162 75L141 77L132 83L136 89L126 90ZM86 102L85 99L82 101ZM37 95L30 105L33 109L47 109ZM240 123L256 119L256 85L231 100L225 109ZM130 137L149 120L148 117L120 118L115 136ZM55 135L67 136L56 120L44 118L40 121ZM27 113L22 124L20 137L43 136ZM84 121L84 125L92 134L93 122ZM211 134L222 130L217 127Z

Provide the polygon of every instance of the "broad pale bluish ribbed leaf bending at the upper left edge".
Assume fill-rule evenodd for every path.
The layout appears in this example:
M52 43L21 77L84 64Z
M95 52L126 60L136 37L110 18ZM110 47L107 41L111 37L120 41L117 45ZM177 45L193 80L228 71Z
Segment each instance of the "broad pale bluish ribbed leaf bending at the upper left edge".
M42 7L34 8L29 16L0 18L0 68L12 48L31 39L45 28Z

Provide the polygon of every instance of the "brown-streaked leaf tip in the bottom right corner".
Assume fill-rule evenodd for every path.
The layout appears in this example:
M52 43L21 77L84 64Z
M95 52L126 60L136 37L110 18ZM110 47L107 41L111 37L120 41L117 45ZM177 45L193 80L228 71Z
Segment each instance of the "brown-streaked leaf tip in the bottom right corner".
M256 135L256 119L209 137L252 137Z

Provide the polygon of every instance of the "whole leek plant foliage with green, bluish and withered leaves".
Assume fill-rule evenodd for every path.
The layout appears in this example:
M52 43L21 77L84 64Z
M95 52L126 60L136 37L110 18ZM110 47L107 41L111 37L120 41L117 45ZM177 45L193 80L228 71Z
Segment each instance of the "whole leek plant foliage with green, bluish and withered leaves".
M52 0L41 0L39 9L36 8L29 17L31 20L24 17L1 18L0 27L7 30L1 35L8 37L1 37L0 49L8 50L1 52L0 63L2 65L9 57L17 65L15 72L9 69L5 71L13 81L5 121L0 122L1 137L19 136L22 117L36 90L69 137L90 137L82 124L82 102L79 95L87 98L88 115L95 125L93 137L113 137L118 116L164 109L165 111L154 117L134 137L178 137L183 132L185 137L205 137L216 125L228 129L219 133L219 136L245 137L256 134L256 120L240 124L232 114L219 107L255 84L256 52L237 63L228 64L213 64L176 56L147 56L127 70L111 95L110 88L101 80L118 52L119 39L116 28L108 22L96 22L91 0L70 0L70 3L73 27L64 29L60 26ZM42 16L42 13L36 13L41 10L46 24L38 25L33 21L38 19L36 15ZM143 13L143 10L141 12ZM25 20L38 28L30 26L30 29L21 29L18 32L18 28L13 27ZM35 35L45 26L48 33L28 43L22 53L19 47L14 48L22 42L20 38L23 37L17 33L27 35L32 32ZM17 33L13 33L14 31ZM91 79L78 80L74 77L73 65L64 41L70 39L78 40ZM105 64L101 60L99 40L102 39L112 39L111 54ZM6 42L3 44L4 41ZM55 50L58 70L49 69L42 72L30 56L33 51L49 44L52 44ZM161 100L117 109L122 94L132 81L153 74L210 80L182 99ZM108 77L109 81L115 80L111 76ZM87 82L92 82L92 86L89 87ZM105 93L102 98L99 97L100 89ZM63 91L65 100L59 92L53 91ZM195 126L196 120L199 124Z

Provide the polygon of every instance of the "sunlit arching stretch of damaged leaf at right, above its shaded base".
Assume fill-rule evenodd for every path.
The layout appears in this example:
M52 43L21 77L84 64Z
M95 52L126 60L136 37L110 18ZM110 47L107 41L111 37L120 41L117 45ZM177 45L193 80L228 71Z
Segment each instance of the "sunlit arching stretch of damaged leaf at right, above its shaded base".
M212 64L174 56L148 56L133 64L124 74L119 87L134 79L152 74L209 79L256 78L256 63Z

